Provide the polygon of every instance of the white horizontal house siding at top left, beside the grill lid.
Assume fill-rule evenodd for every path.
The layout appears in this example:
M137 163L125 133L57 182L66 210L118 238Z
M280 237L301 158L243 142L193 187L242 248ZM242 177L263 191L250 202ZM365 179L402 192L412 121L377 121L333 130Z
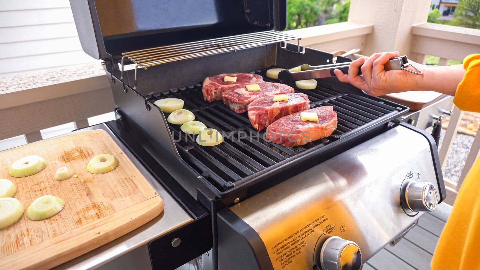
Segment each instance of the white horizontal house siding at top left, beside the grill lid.
M68 0L0 0L0 77L92 61Z

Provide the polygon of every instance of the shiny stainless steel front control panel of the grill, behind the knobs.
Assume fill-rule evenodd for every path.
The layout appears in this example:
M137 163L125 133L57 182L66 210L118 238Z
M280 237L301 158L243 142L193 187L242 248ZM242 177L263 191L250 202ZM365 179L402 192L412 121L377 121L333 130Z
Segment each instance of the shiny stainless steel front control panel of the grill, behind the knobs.
M313 269L318 249L334 235L355 241L365 262L421 215L402 209L404 181L439 190L432 157L424 135L398 126L230 210L258 233L274 269ZM222 237L220 258L231 248Z

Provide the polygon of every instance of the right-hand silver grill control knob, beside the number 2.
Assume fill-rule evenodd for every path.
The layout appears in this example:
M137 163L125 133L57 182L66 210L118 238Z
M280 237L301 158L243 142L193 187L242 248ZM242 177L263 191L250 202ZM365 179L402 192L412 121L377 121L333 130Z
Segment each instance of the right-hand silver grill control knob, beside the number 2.
M438 203L437 190L428 182L404 182L400 198L407 214L433 211Z

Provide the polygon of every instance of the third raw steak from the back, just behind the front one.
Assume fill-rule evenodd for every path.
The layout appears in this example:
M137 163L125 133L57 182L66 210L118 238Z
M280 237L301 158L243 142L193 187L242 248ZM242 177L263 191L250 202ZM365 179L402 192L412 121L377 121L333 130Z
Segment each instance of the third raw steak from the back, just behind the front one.
M274 97L278 97L276 95L258 98L248 105L248 118L256 130L266 128L283 116L310 108L310 100L305 94L293 93L285 96L288 96L288 101L274 101Z

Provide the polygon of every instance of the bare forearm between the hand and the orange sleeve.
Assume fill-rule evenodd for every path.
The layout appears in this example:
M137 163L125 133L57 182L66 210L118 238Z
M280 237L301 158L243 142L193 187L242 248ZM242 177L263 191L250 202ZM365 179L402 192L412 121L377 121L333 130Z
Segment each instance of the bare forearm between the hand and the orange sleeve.
M417 76L416 85L421 91L435 91L455 96L456 88L465 75L463 65L422 65L423 74Z

